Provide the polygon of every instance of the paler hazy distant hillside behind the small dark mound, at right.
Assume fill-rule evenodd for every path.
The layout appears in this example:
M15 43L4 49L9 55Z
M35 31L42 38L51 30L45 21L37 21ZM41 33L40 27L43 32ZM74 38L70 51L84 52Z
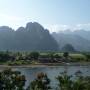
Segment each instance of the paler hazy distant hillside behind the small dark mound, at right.
M66 44L71 44L77 51L90 51L90 40L84 38L84 35L79 35L79 33L64 31L52 33L52 36L58 42L60 49Z

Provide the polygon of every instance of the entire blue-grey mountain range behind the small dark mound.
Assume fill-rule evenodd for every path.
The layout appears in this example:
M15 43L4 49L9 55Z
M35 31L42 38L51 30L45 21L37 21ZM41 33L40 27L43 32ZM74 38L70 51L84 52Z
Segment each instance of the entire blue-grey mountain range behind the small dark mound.
M90 31L66 30L51 34L37 22L28 22L16 31L8 26L0 27L0 50L60 51L67 44L76 51L90 51Z

